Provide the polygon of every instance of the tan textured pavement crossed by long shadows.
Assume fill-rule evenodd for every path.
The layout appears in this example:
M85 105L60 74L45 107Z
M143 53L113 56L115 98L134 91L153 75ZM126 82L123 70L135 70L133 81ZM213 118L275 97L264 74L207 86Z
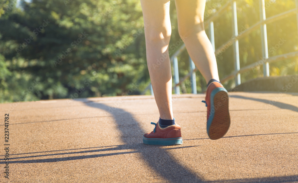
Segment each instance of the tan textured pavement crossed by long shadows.
M0 104L2 144L10 110L0 182L298 182L298 94L229 94L231 126L218 140L207 136L205 95L173 95L176 146L142 143L159 119L152 96Z

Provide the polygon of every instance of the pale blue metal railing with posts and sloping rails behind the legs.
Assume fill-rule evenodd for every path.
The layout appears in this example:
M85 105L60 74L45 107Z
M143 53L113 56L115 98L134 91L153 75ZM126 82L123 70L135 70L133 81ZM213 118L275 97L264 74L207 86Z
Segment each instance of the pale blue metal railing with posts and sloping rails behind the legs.
M256 68L257 66L263 65L263 74L264 77L269 76L269 63L276 62L276 61L281 61L285 60L288 58L293 58L293 57L298 57L298 51L297 52L291 52L291 53L286 53L282 55L277 55L277 56L272 56L268 57L268 44L267 44L267 28L266 24L275 22L277 20L286 18L288 16L296 14L297 16L297 26L298 26L298 0L295 0L296 3L296 8L292 10L288 10L286 12L271 16L269 18L266 18L266 13L265 13L265 0L259 0L259 8L260 8L260 21L254 24L253 26L249 27L248 29L241 31L239 34L238 32L238 24L237 24L237 6L236 2L240 0L230 0L228 1L220 10L218 10L215 14L213 14L210 18L208 18L206 21L204 21L205 27L209 27L209 38L210 42L213 46L215 55L218 55L222 53L221 50L226 50L228 49L231 45L233 45L233 50L234 50L234 66L235 66L235 71L232 72L230 75L222 78L220 81L221 83L224 83L228 80L231 80L235 78L235 85L238 86L240 85L240 74L243 72L247 72L249 70L252 70L253 68ZM223 13L225 13L229 7L232 7L232 24L233 24L233 36L231 39L226 41L224 44L219 46L218 48L215 49L215 42L214 42L214 27L213 27L213 21L215 21L217 18L219 18ZM262 43L262 56L263 59L256 61L248 66L240 68L240 57L239 57L239 43L238 40L244 38L245 36L249 35L254 30L259 29L261 30L261 43ZM191 80L191 86L192 86L192 93L196 94L196 79L195 79L195 71L197 68L195 67L193 61L191 58L189 58L190 61L190 72L183 77L181 80L179 80L179 74L178 74L178 56L186 49L185 44L183 44L170 58L170 61L173 65L174 68L174 81L175 81L175 86L173 86L173 89L175 89L176 94L180 94L180 84L184 82L188 77L190 77ZM148 89L151 89L151 94L153 95L153 90L151 83L148 85L148 87L143 91L142 94L145 94L145 92Z

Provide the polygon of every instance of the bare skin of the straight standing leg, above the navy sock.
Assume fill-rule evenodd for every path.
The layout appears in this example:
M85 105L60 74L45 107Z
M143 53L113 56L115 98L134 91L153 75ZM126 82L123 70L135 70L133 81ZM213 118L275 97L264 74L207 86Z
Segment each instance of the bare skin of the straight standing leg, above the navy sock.
M147 64L159 109L160 118L173 120L172 71L169 58L171 36L170 1L141 0L144 24Z

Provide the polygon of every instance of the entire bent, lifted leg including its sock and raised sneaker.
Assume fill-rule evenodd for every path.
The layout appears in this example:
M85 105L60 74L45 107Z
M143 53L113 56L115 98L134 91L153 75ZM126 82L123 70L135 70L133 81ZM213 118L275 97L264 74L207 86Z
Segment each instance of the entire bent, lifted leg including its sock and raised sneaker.
M219 82L212 45L204 30L206 0L175 0L179 35L195 65L208 83L206 91L207 133L219 139L230 126L229 97Z

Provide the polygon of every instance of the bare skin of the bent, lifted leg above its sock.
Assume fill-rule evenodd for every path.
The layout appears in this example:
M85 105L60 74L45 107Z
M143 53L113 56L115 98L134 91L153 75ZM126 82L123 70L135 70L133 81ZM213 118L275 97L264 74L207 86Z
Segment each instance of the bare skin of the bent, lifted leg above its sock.
M219 81L212 45L204 30L206 0L175 0L179 35L195 65L208 83Z

